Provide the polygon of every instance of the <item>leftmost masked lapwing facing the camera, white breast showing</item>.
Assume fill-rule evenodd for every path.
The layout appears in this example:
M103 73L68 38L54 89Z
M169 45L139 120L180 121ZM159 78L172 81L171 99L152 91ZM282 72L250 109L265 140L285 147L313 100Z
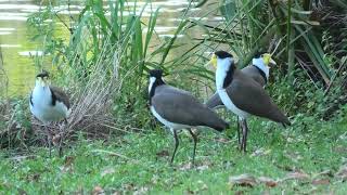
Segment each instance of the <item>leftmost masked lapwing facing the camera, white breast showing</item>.
M30 112L37 119L43 122L44 127L52 121L64 120L67 123L66 118L70 112L68 96L62 89L50 86L50 76L46 70L36 76L35 88L30 94ZM47 133L51 156L52 140L48 130ZM59 144L60 155L62 155L61 142Z

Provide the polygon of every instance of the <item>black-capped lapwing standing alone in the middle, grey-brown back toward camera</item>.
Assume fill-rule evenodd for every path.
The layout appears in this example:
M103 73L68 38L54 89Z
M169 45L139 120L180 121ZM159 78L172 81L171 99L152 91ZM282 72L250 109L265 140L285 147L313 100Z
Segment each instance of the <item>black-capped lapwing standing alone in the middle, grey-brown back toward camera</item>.
M149 94L151 112L174 134L175 150L171 164L179 145L177 131L181 129L188 129L193 138L194 150L192 159L194 164L197 138L190 128L205 126L217 131L222 131L229 126L214 110L200 103L188 91L166 84L162 76L163 70L160 69L150 70Z

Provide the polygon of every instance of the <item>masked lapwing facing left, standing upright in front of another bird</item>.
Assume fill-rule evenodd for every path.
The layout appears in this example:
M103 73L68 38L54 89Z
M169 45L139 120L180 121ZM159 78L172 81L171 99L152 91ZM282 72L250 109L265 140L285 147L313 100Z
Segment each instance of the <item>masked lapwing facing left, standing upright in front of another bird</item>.
M226 107L239 116L243 129L241 150L246 152L250 115L291 125L288 118L279 109L265 89L254 79L236 69L232 55L224 51L213 54L210 63L217 67L216 88ZM227 90L228 89L228 90Z

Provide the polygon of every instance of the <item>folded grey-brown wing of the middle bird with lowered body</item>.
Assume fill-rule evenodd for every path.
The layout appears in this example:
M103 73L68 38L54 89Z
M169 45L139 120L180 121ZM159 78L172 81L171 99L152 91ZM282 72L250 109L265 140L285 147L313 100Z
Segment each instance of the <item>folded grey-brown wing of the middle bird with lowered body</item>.
M189 92L169 86L159 86L152 98L155 110L166 120L189 126L207 126L223 130L228 123L200 103Z

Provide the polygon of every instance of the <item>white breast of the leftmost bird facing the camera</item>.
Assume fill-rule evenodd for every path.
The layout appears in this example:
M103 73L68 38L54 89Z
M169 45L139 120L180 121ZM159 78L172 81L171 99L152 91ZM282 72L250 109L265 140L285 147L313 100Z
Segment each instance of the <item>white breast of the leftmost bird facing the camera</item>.
M68 116L67 107L56 101L55 105L52 105L52 94L49 87L36 86L33 90L33 104L30 104L30 112L43 123L51 121L60 121Z

